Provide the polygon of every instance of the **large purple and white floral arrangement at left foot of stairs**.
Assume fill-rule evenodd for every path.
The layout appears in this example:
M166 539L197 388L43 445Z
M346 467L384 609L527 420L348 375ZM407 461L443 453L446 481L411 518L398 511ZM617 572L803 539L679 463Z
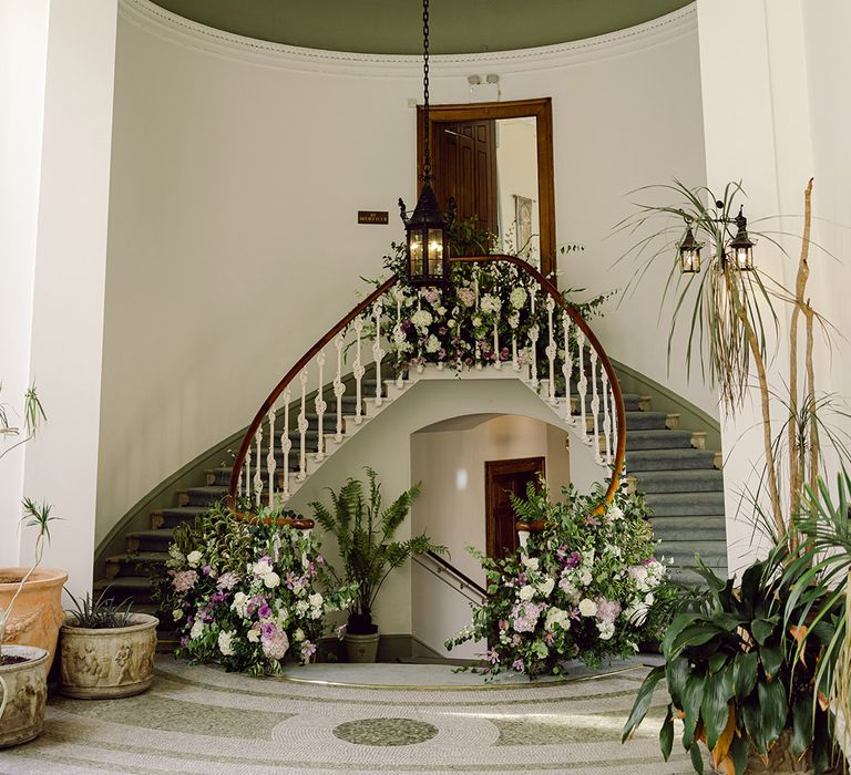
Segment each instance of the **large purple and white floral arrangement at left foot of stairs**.
M178 657L276 673L285 658L307 662L326 613L350 604L356 590L332 586L315 539L277 516L240 521L216 507L175 529L158 598Z

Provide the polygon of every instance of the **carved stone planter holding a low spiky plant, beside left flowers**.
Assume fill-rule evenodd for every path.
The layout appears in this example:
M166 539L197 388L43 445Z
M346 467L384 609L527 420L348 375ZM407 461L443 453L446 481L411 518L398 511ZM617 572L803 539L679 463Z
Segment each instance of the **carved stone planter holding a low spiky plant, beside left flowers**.
M134 613L132 620L129 627L96 630L62 626L62 694L81 700L126 698L153 683L160 620L147 613Z

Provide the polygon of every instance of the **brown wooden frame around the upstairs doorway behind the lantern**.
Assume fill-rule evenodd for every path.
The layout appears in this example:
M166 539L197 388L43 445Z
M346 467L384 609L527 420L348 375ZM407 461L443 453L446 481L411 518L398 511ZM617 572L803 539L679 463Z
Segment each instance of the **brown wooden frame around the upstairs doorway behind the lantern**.
M513 102L476 102L458 105L429 105L429 140L432 151L434 124L484 121L486 118L535 118L537 140L537 218L541 242L541 271L548 276L556 269L555 251L555 182L553 169L553 101L552 97L515 100ZM424 134L422 105L417 106L417 180L422 180ZM432 165L433 167L434 165ZM420 184L418 184L418 196Z

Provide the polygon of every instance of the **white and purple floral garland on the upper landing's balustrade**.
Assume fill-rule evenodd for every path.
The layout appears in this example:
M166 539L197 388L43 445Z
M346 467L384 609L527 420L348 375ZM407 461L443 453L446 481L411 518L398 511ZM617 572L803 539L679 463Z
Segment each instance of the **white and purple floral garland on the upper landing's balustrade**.
M476 242L478 252L491 252L492 245L493 241L481 239ZM396 272L399 282L377 303L381 307L381 335L389 344L383 360L396 373L402 373L409 365L426 364L457 371L503 363L517 368L530 363L533 356L543 368L547 360L546 294L531 275L507 261L459 262L451 266L449 288L414 288L404 280L404 245L392 244L392 248L393 255L385 257L385 266ZM571 245L562 248L562 252L581 249ZM553 276L547 279L555 280ZM602 314L601 306L612 293L575 301L575 294L583 291L570 288L562 296L584 320ZM556 321L561 320L560 311L557 316ZM363 331L375 337L375 317L367 320ZM573 328L571 338L577 362ZM563 347L558 356L564 358Z

